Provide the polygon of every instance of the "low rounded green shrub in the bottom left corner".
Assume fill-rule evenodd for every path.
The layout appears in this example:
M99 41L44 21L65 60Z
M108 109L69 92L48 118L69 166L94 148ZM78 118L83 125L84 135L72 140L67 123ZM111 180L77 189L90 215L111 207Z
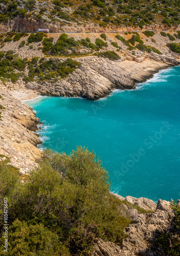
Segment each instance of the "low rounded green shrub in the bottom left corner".
M15 220L8 230L8 253L3 255L37 255L59 256L70 255L68 250L59 242L58 235L44 227L43 224L28 225L25 221ZM4 239L0 239L3 244ZM33 253L33 254L32 254ZM62 254L63 253L63 254Z

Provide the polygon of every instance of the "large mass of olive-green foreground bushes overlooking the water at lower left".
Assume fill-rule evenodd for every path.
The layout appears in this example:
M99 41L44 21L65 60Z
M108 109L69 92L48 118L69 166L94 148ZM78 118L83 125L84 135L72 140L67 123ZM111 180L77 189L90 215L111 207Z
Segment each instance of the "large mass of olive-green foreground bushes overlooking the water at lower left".
M8 198L9 250L1 255L87 255L96 237L120 243L130 223L122 202L109 193L108 172L93 152L44 152L39 167L21 183L0 164L0 229ZM123 212L123 213L122 213Z

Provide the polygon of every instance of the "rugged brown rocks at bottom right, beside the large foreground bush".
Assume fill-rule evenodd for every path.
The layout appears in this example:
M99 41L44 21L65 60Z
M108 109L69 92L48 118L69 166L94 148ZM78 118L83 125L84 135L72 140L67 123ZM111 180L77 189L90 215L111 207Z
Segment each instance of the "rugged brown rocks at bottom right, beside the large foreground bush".
M164 256L162 247L157 239L163 233L168 233L172 239L180 236L180 230L174 224L174 213L170 202L159 199L158 204L147 198L123 198L116 195L120 200L137 204L143 209L150 209L149 214L138 214L137 209L129 209L128 216L131 224L125 228L127 237L122 240L120 246L114 243L96 239L94 251L89 256ZM180 200L177 200L180 203Z

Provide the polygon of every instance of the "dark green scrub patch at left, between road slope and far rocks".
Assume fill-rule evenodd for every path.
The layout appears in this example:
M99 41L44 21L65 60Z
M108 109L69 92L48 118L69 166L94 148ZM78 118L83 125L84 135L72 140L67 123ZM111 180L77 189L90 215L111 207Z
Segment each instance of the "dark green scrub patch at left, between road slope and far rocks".
M34 80L40 82L45 79L54 80L57 77L64 78L81 66L80 62L71 58L65 61L53 58L45 60L45 58L39 59L39 57L34 57L31 60L28 60L28 58L21 59L12 50L7 51L6 54L1 51L0 60L0 77L12 82L16 82L19 78L26 82ZM29 70L28 77L24 74L25 69Z

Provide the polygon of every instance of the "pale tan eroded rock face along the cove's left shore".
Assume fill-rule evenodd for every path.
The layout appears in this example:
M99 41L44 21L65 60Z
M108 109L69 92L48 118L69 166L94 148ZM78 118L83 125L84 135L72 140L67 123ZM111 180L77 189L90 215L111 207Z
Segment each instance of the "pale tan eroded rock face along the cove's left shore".
M37 166L36 160L42 154L37 148L41 140L34 133L38 130L39 119L30 106L1 89L0 95L0 103L6 108L0 120L0 154L9 157L11 164L19 167L21 173L28 172Z

